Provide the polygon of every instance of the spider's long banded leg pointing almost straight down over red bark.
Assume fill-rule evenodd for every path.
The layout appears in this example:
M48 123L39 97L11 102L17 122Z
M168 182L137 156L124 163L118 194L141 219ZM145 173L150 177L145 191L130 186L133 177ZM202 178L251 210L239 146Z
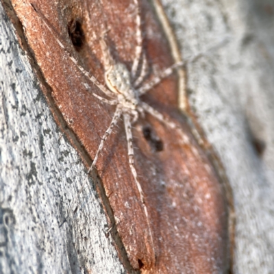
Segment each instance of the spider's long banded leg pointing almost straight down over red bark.
M151 238L151 246L152 246L152 249L153 249L153 253L155 255L153 236L152 236L152 232L151 232L151 225L150 225L150 222L149 222L149 214L147 212L147 206L145 205L144 192L142 192L142 187L141 187L141 185L138 181L137 172L136 172L136 169L135 169L135 166L134 166L134 149L133 149L133 145L132 145L132 125L130 123L130 116L129 116L129 114L123 114L123 118L124 118L124 124L125 124L125 134L127 136L127 153L128 153L128 156L129 156L129 166L130 166L130 169L132 171L132 175L134 177L134 181L135 181L136 186L138 188L138 192L139 192L139 195L140 195L142 206L143 206L144 211L145 211L145 216L147 218L147 225L149 227L149 236Z

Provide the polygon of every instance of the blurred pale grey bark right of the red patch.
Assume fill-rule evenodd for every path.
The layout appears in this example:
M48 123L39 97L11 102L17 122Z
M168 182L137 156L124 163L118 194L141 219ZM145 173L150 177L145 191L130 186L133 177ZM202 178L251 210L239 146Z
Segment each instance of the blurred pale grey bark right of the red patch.
M274 3L163 3L182 55L208 53L187 66L188 96L234 192L234 271L274 273Z

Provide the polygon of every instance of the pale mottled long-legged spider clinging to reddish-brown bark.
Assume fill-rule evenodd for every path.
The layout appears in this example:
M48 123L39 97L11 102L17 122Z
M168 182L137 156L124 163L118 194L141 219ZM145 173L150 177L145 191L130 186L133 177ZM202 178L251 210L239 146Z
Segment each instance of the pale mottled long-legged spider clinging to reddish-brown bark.
M134 60L132 62L132 68L130 71L127 69L125 64L121 62L116 62L116 60L114 60L114 58L112 57L112 54L110 53L110 49L108 48L106 42L107 32L104 32L103 36L99 39L101 53L103 56L104 79L106 86L101 84L93 75L90 75L90 73L88 73L84 69L84 67L81 66L79 62L77 62L77 60L71 55L71 53L69 53L69 51L66 50L66 47L64 47L61 40L58 39L58 36L55 35L53 29L47 21L47 18L45 18L45 16L41 12L39 12L36 6L34 6L33 4L31 5L32 8L34 8L34 10L38 13L40 18L42 18L42 21L45 23L45 26L47 27L47 29L49 29L49 32L51 32L51 34L58 42L60 47L64 50L64 53L66 53L66 55L69 56L69 58L75 64L75 66L77 66L79 71L81 71L90 80L90 82L92 82L92 84L95 84L95 86L97 86L105 94L106 98L101 97L94 92L91 92L91 95L96 97L105 104L116 106L116 110L114 111L114 114L112 116L112 121L108 129L106 129L105 133L103 134L103 137L101 138L101 142L99 143L99 147L95 153L95 158L92 162L92 165L88 169L88 173L90 173L93 169L96 168L97 160L99 158L99 154L101 153L104 147L105 140L107 140L110 134L112 134L112 131L114 127L117 125L119 119L123 118L127 140L127 155L129 167L134 177L134 182L138 189L138 193L140 195L140 201L142 203L142 207L147 219L146 221L149 227L149 238L151 239L153 252L155 254L153 245L153 233L149 221L147 206L145 203L145 195L140 185L140 182L138 181L138 173L136 172L136 168L134 165L132 125L138 121L140 116L145 117L146 114L149 114L155 117L155 119L158 119L158 121L163 123L166 127L169 127L169 129L177 130L179 135L182 137L182 142L184 142L184 144L187 144L189 142L188 136L186 136L186 134L182 132L182 129L180 129L178 125L164 117L164 115L158 112L158 110L155 110L149 104L141 100L142 95L145 95L145 93L151 90L151 88L160 84L162 79L169 77L176 68L184 66L185 62L177 62L173 64L169 68L164 69L163 71L158 73L158 75L155 75L152 79L149 80L149 82L143 84L145 77L147 76L148 64L144 49L142 47L140 7L138 4L138 0L134 0L134 4L137 7L136 48ZM82 184L81 188L79 189L77 197L75 197L75 200L72 203L71 209L74 208L75 202L77 201L79 194L82 192L87 182L88 179L86 179L84 184ZM62 224L66 221L66 219L67 217L64 219ZM62 224L60 226L62 226Z

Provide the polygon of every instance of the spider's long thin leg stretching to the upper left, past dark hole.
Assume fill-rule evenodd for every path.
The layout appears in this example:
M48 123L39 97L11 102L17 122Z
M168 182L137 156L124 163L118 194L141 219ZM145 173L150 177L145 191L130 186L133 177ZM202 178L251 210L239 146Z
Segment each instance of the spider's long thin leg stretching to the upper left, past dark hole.
M47 27L47 29L49 29L49 32L51 32L51 34L53 35L53 38L56 40L56 42L58 42L58 44L60 45L60 47L64 50L64 53L66 55L68 55L68 57L71 59L71 61L77 66L77 68L79 69L79 71L81 71L86 77L88 77L88 79L95 84L101 91L103 91L105 93L105 95L108 95L110 98L114 98L113 93L108 90L108 88L105 88L105 86L103 86L102 84L99 83L99 81L97 81L97 79L93 76L90 75L90 73L88 73L88 71L86 71L80 64L79 62L73 57L73 55L64 47L64 45L62 44L60 38L58 38L58 33L55 32L53 30L52 27L50 27L50 23L47 20L47 18L44 16L44 14L42 14L42 12L40 12L40 10L38 10L38 8L36 8L36 6L34 4L30 4L32 5L32 8L34 9L34 11L40 16L40 18L42 19L43 23L45 23L45 26Z

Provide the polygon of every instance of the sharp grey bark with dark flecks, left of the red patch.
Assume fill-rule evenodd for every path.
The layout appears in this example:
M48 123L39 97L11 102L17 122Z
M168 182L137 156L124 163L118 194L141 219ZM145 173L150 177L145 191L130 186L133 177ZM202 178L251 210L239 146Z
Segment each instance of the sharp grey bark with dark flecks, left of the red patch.
M124 273L94 189L59 227L86 173L60 138L1 3L0 102L0 273Z

